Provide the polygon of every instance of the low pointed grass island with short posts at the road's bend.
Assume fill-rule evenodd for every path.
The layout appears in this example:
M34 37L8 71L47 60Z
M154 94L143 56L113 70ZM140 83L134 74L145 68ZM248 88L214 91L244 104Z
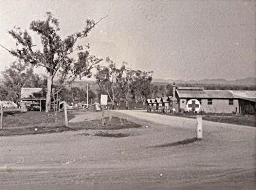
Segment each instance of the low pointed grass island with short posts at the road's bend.
M127 119L121 119L118 117L112 117L112 119L109 119L109 117L104 117L103 122L102 122L102 120L95 119L92 121L70 123L69 126L70 126L70 128L76 129L76 130L78 130L78 129L115 130L115 129L141 128L142 127L140 124L136 124Z

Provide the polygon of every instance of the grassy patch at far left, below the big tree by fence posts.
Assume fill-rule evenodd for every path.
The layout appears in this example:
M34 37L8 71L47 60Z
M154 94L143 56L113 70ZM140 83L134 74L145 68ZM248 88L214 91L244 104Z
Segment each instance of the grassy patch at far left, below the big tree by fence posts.
M68 120L72 118L74 118L74 114L68 113ZM57 119L53 112L7 112L4 113L4 129L0 129L0 136L58 133L73 130L64 126L63 121L63 112L58 113Z

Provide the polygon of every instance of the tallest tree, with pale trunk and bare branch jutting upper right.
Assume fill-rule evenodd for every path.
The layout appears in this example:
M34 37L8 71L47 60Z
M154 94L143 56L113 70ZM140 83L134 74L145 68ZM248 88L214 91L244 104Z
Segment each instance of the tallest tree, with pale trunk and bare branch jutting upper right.
M103 18L100 18L102 20ZM9 31L9 34L15 39L16 47L8 50L15 57L24 62L28 62L32 66L42 66L47 71L47 96L46 109L49 112L51 106L52 83L57 75L58 86L57 91L67 84L71 84L78 77L90 77L91 69L98 64L101 59L94 55L90 55L90 47L86 45L75 44L77 40L86 38L88 33L99 22L94 20L86 20L85 27L82 31L71 34L65 39L61 39L59 34L60 25L57 18L51 12L47 12L45 20L32 21L29 29L35 32L41 38L42 50L36 48L28 31L22 32L19 27L15 27ZM77 59L70 56L77 52Z

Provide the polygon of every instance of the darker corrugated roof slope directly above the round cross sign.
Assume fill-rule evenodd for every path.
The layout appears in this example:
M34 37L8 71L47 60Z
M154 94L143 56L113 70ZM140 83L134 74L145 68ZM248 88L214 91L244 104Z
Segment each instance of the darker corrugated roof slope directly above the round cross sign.
M230 91L222 90L176 90L179 98L225 98L225 99L236 99L237 96L232 94Z

